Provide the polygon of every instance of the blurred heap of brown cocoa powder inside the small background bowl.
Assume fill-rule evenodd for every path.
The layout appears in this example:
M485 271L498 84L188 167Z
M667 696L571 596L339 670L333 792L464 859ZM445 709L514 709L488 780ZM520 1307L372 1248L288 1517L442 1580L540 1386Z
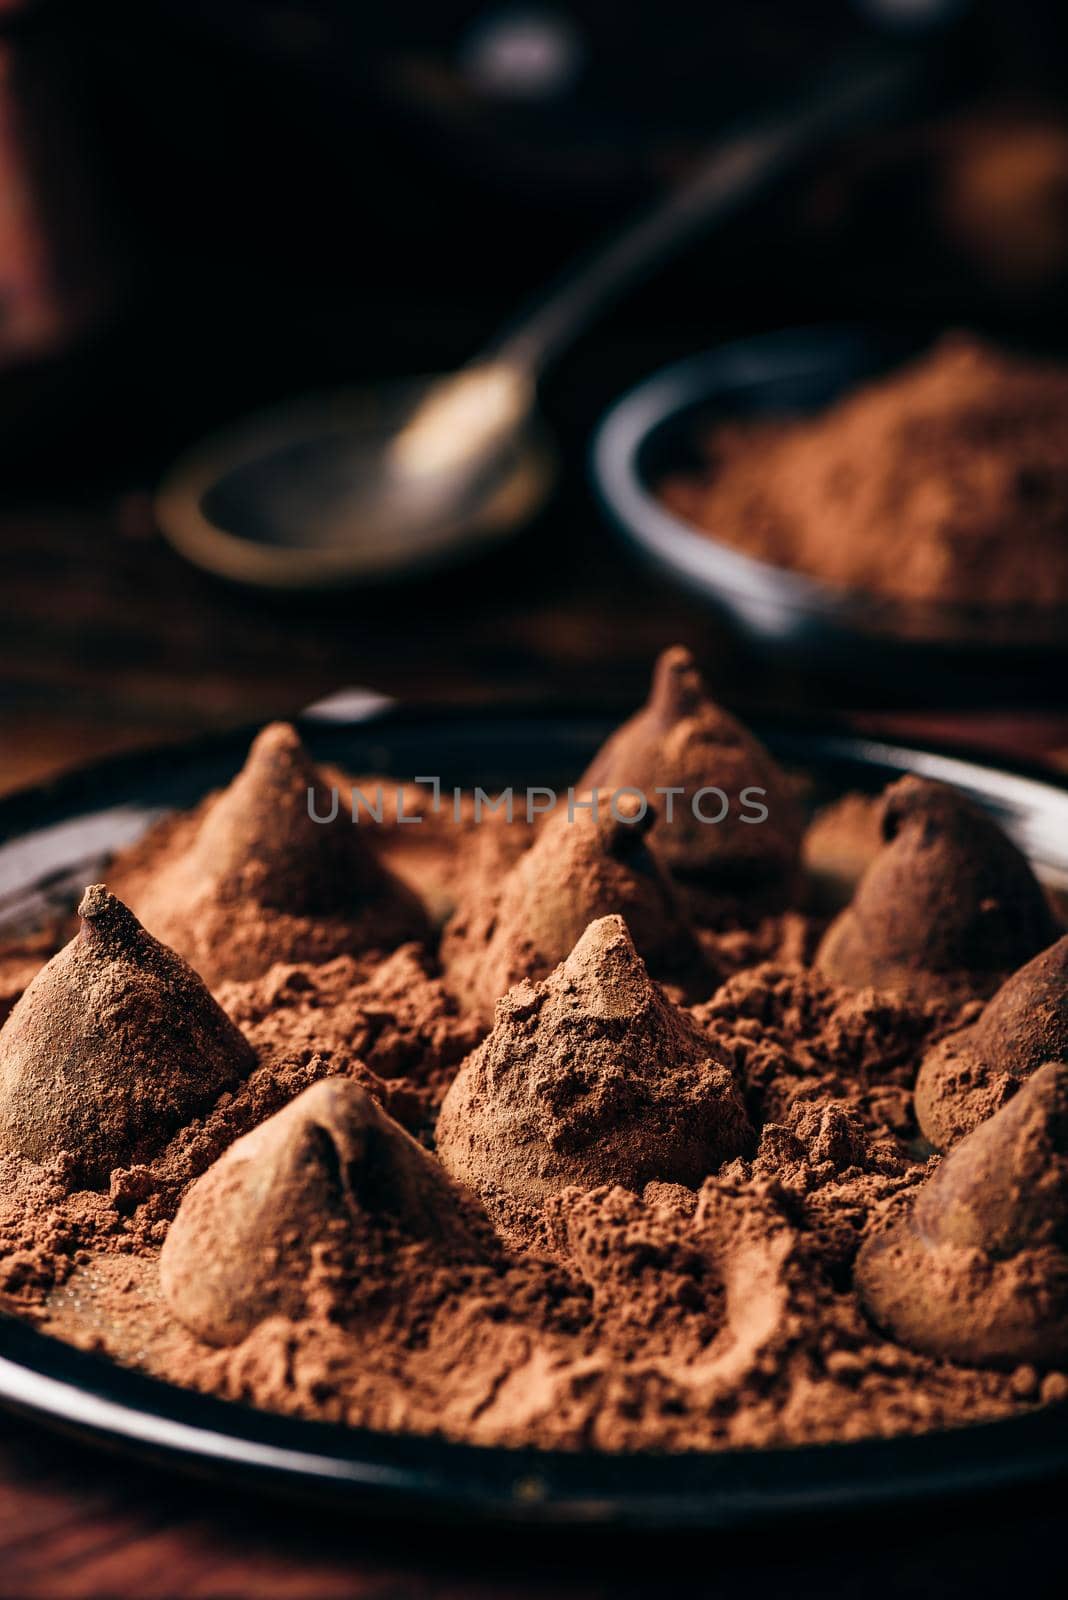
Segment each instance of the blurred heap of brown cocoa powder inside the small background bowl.
M1068 371L954 334L822 416L731 422L665 504L748 555L908 602L1068 605Z

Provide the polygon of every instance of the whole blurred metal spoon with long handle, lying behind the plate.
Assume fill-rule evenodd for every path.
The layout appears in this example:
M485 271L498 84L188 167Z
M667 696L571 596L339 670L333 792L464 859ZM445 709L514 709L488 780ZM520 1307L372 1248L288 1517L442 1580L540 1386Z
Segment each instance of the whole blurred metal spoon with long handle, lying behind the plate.
M400 576L502 538L555 478L537 413L553 357L697 230L915 83L911 53L841 62L796 106L724 138L460 371L299 400L206 440L160 488L163 533L214 573L275 587Z

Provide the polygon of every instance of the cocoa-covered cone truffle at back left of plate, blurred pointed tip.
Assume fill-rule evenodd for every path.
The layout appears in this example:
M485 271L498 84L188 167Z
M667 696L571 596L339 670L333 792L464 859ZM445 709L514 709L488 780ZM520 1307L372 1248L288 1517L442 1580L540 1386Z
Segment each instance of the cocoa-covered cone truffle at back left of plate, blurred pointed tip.
M209 984L427 938L416 894L376 859L288 723L257 734L229 789L128 893Z

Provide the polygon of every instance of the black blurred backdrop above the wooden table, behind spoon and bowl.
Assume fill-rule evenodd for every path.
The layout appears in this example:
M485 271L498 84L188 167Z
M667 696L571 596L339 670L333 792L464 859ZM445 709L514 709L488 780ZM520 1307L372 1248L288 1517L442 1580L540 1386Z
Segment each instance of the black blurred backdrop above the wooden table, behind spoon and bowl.
M176 446L251 405L456 365L718 130L862 38L902 37L867 18L910 8L946 13L926 29L945 109L822 152L593 328L550 394L564 427L724 333L923 317L1046 336L1063 320L1068 176L1057 194L1057 157L1050 174L1033 147L1044 125L1065 136L1063 6L14 6L8 162L64 358L5 382L8 482L150 483ZM574 61L526 96L492 77L494 37L505 50L524 16ZM969 160L1001 190L972 205L985 238L982 216L970 230L951 216ZM1006 190L1025 240L1006 237Z

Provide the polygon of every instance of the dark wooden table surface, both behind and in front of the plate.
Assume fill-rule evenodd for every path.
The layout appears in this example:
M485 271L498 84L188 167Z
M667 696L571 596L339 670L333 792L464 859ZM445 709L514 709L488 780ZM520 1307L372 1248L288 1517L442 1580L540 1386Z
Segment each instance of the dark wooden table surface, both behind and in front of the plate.
M475 570L329 600L272 600L203 578L160 542L137 496L5 515L0 790L110 750L286 715L341 685L622 710L641 696L654 653L675 640L692 645L716 693L745 709L849 701L873 726L1028 755L1068 749L1068 717L1050 704L1049 683L1036 685L1030 709L975 696L935 710L918 696L910 709L899 685L807 680L740 656L700 608L619 560L580 491L566 507ZM907 1592L935 1573L945 1597L986 1582L1004 1589L1018 1541L1033 1573L1062 1530L1057 1499L1030 1498L935 1523L899 1512L876 1526L707 1539L684 1560L719 1594L855 1597L859 1584L883 1582ZM446 1536L265 1507L0 1418L3 1597L593 1600L671 1592L665 1571L679 1558L662 1541Z

